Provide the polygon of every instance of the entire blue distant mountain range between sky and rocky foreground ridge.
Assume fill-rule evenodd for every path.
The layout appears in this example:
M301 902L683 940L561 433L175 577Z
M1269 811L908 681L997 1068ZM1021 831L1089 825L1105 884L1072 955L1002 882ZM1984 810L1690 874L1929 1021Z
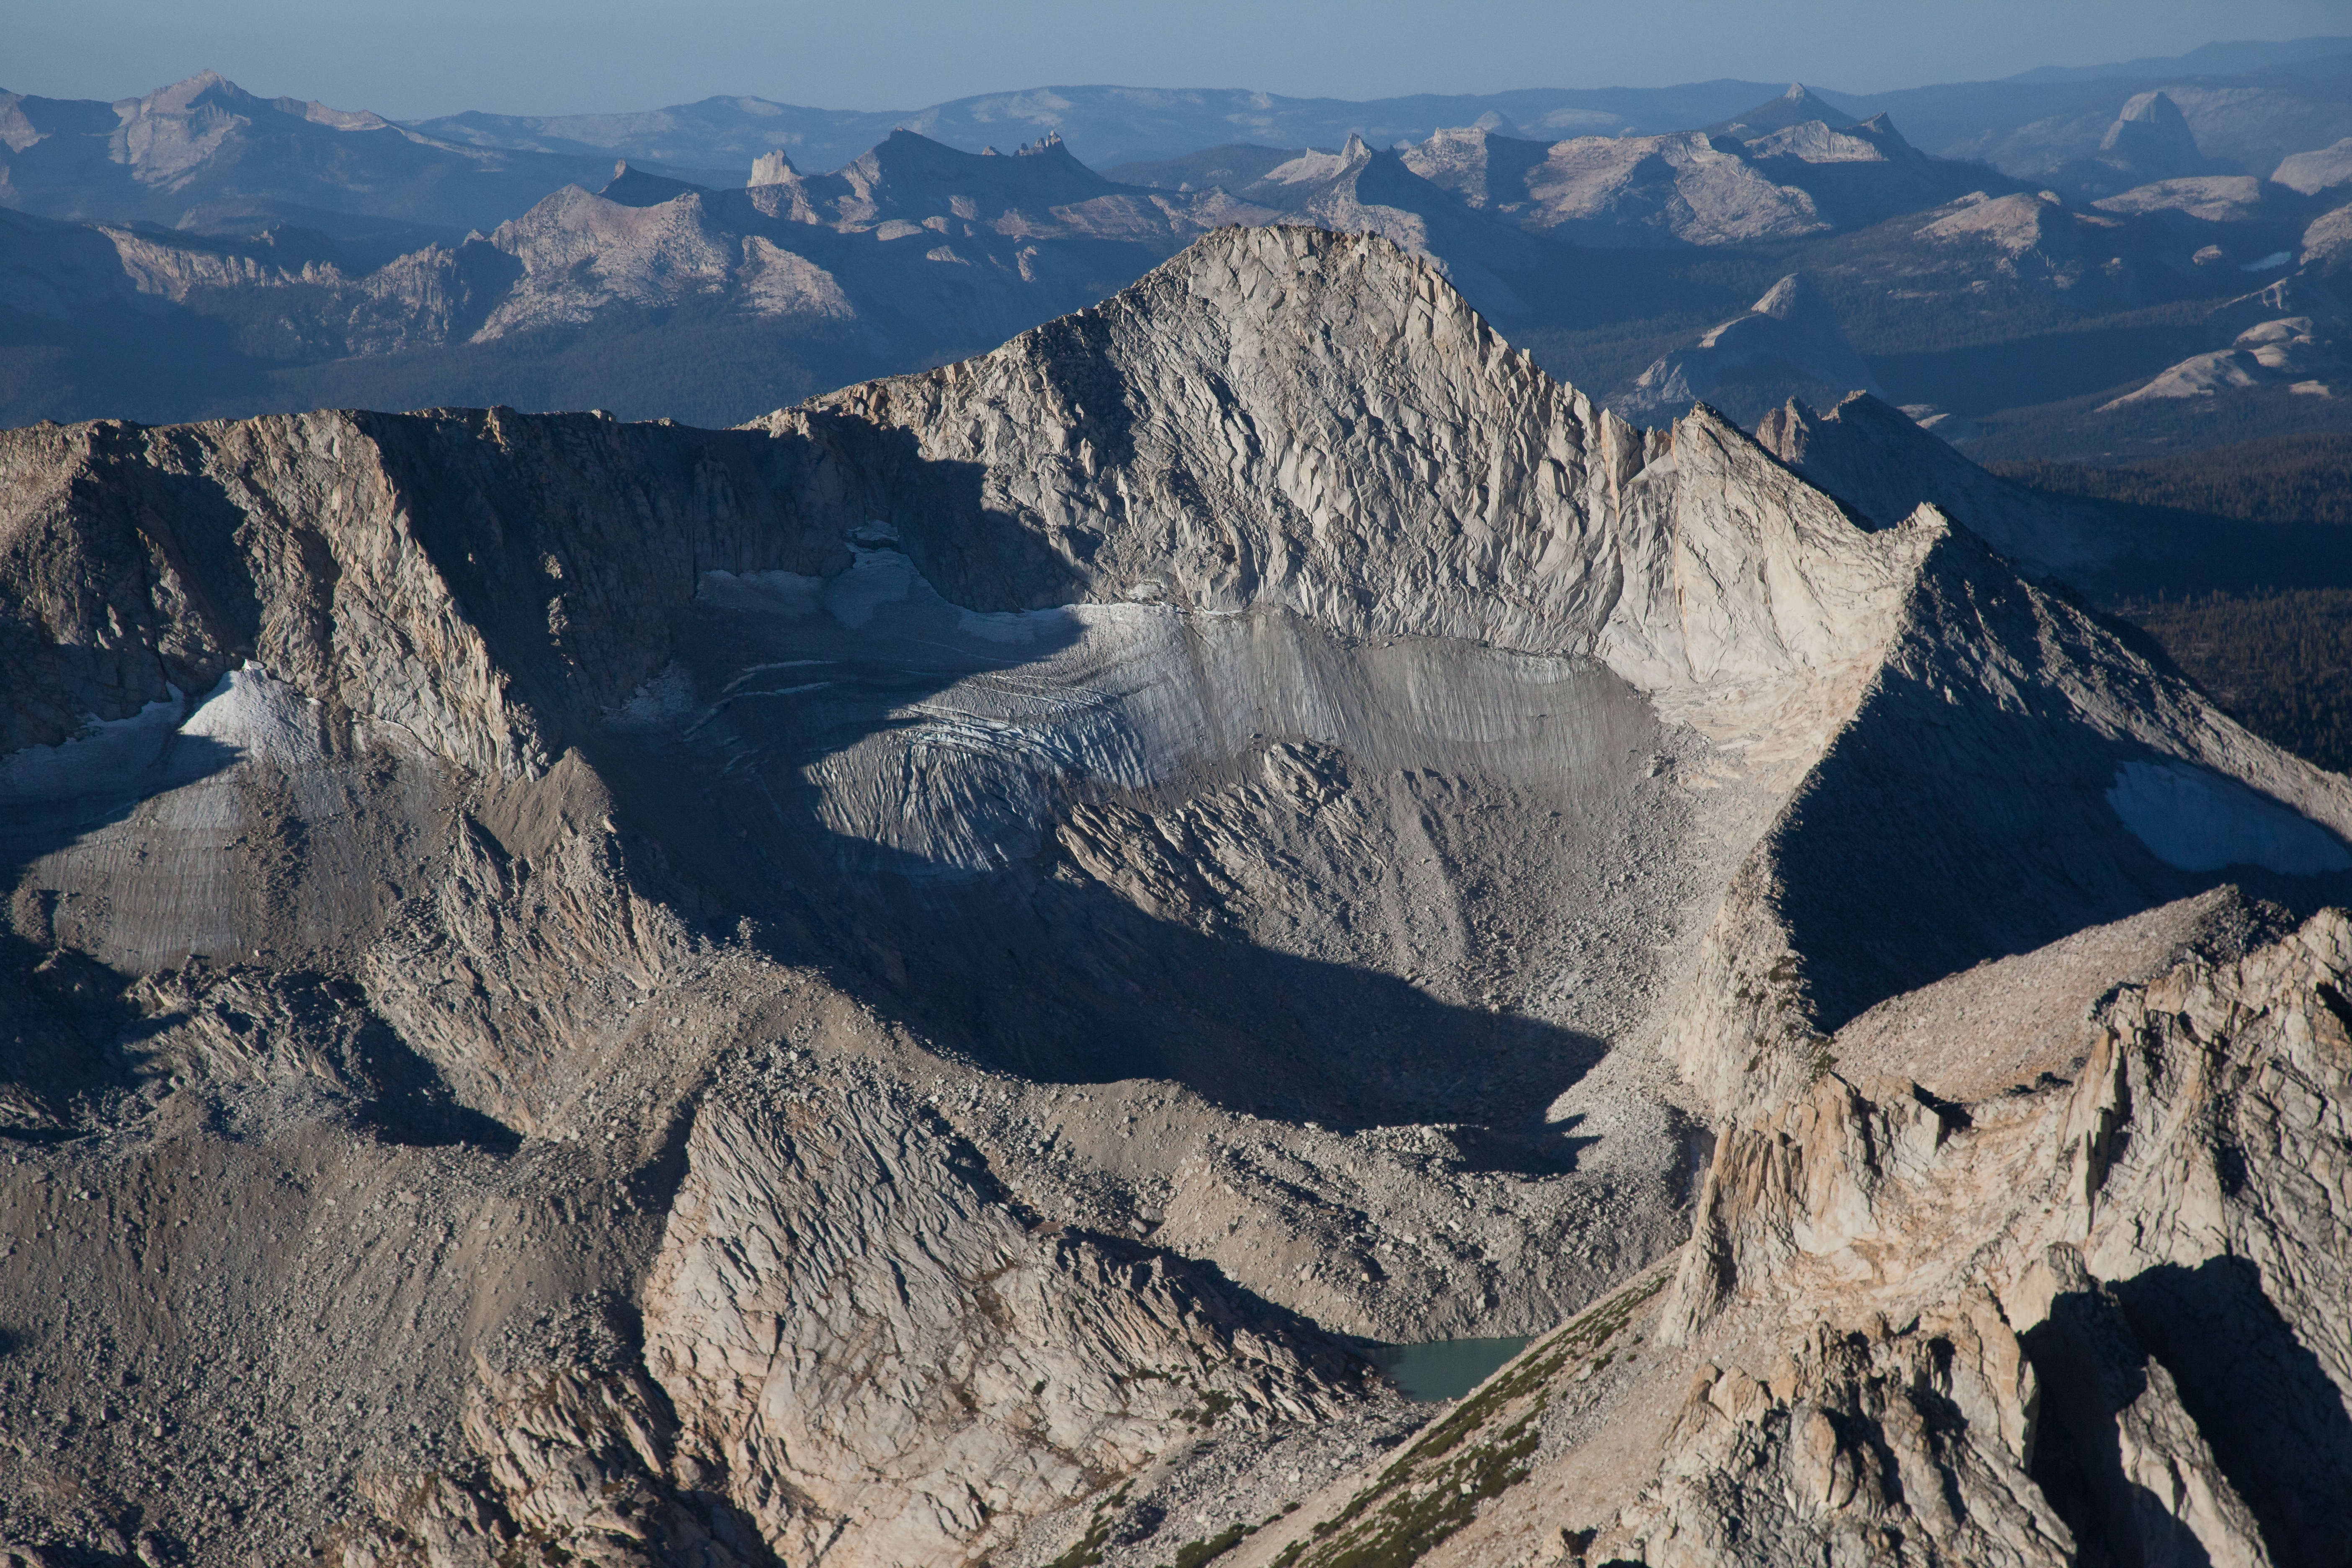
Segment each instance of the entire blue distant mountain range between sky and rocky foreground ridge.
M1277 221L1437 261L1644 421L1708 397L1752 423L1856 386L2018 456L2058 430L2154 440L2119 418L2194 442L2201 411L2249 397L2326 421L2333 315L2204 313L2352 266L2333 45L2352 40L1872 101L1037 89L901 115L922 129L760 99L393 125L216 75L120 103L0 96L0 421L508 402L731 423L976 353L1209 228ZM2241 75L2147 85L2178 66ZM2263 374L2173 374L2213 355ZM2133 400L2159 381L2197 400Z

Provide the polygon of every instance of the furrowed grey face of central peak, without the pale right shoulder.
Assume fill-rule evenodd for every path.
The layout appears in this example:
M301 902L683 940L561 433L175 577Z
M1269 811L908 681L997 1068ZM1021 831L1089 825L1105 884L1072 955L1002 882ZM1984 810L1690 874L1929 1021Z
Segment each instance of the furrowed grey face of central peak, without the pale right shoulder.
M1282 604L1359 635L1583 651L1639 437L1399 261L1230 230L995 355L764 425L837 414L969 465L964 515L901 527L962 604Z

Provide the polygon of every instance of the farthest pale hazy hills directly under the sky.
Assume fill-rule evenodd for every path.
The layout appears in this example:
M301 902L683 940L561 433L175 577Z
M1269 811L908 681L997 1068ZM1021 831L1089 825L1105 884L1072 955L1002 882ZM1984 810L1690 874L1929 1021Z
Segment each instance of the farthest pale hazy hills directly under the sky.
M2046 179L2093 160L2136 96L2169 89L2204 155L2267 174L2291 153L2352 134L2343 115L2347 40L2305 40L2293 61L2277 49L2230 49L2178 61L2013 80L1922 87L1877 99L1809 92L1802 113L1757 115L1766 82L1661 89L1414 96L1371 103L1282 99L1261 92L1042 87L962 99L927 110L814 110L764 99L708 99L635 115L449 115L395 125L367 110L259 99L205 73L118 103L0 94L0 202L42 216L158 221L238 230L268 219L329 214L494 228L562 183L588 183L616 158L701 183L739 183L764 153L802 167L849 162L891 129L962 150L1011 148L1058 134L1091 167L1185 158L1209 146L1338 148L1350 134L1374 148L1425 141L1442 127L1486 127L1534 141L1656 136L1693 127L1783 129L1799 120L1851 125L1893 118L1929 153L1992 162ZM2333 52L2333 54L2331 54ZM2216 75L2223 61L2263 61L2253 75ZM2333 115L2333 118L2331 118ZM1745 139L1745 136L1743 136ZM325 223L313 216L308 226ZM454 237L454 235L452 235Z

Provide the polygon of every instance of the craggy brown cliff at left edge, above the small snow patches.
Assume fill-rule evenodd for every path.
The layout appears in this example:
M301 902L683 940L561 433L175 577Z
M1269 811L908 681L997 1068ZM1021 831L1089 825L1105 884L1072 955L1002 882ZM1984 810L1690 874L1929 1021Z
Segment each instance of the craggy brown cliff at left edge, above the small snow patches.
M242 661L470 766L532 748L350 416L35 428L7 477L9 651L33 675L9 691L12 750L209 691ZM362 550L341 559L329 529Z

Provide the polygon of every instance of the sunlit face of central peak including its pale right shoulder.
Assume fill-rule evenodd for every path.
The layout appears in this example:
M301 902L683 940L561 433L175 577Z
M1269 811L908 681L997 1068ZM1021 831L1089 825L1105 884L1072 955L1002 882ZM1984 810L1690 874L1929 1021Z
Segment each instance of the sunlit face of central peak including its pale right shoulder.
M995 355L762 423L823 414L974 473L962 515L901 529L964 604L1282 607L1350 635L1599 654L1661 689L1851 658L1903 581L1875 564L1898 545L1712 414L1642 437L1435 268L1317 230L1218 235ZM1877 621L1849 614L1863 602Z

